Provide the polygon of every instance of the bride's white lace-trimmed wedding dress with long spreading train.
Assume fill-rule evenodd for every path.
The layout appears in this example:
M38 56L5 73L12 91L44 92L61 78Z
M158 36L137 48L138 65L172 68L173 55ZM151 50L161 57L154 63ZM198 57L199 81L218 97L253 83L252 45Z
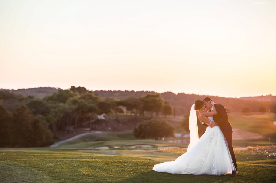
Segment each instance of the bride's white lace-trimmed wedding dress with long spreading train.
M208 118L214 121L213 117ZM220 127L208 126L197 143L188 148L186 153L174 161L156 164L152 170L171 174L225 175L236 169Z

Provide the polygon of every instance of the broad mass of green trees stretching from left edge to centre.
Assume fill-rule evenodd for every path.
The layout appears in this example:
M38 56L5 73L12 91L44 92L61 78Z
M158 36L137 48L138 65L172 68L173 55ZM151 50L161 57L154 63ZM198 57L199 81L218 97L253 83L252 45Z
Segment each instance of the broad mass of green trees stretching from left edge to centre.
M171 105L160 94L147 94L139 98L128 96L123 100L103 99L84 87L74 86L58 90L43 99L0 91L0 100L1 147L49 145L58 130L69 134L84 121L89 121L92 129L97 115L115 114L119 122L118 114L123 113L124 108L135 118L138 114L144 115L144 112L151 117L172 114Z

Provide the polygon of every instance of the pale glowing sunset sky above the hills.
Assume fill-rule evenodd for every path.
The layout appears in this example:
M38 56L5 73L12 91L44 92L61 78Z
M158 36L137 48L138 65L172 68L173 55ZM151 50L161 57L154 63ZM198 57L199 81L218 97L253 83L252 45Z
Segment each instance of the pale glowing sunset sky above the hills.
M0 0L0 88L276 95L275 0Z

